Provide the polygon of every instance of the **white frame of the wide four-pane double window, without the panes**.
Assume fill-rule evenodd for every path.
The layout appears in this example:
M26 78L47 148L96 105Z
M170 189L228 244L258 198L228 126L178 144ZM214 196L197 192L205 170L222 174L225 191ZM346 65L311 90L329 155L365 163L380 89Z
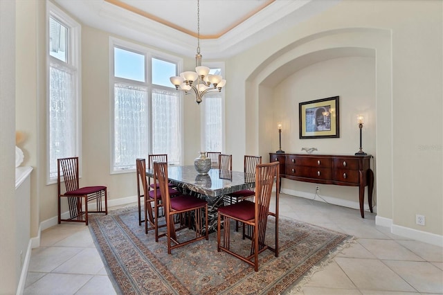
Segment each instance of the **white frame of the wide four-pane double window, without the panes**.
M140 82L136 80L128 80L125 78L118 78L114 76L114 47L118 47L127 51L133 51L135 53L139 53L141 55L145 55L145 82ZM150 138L148 141L148 151L152 153L152 91L153 89L162 89L168 91L177 91L174 85L171 84L171 87L165 87L158 84L152 84L152 58L157 60L164 60L166 62L171 62L173 64L177 64L177 73L180 73L183 68L183 58L170 55L168 53L163 53L161 51L156 51L147 46L142 46L140 44L134 44L132 42L125 41L123 39L119 39L117 37L109 37L109 173L111 175L122 174L122 173L132 173L135 172L136 169L125 169L125 170L116 170L114 168L114 143L115 143L115 120L114 120L114 84L116 82L125 83L125 84L137 84L141 87L147 87L147 108L148 108L148 116L147 116L147 127L148 133L150 134ZM179 126L180 126L180 134L183 134L183 93L179 92L179 109L180 109L180 118L179 118ZM181 136L181 155L180 155L180 163L183 163L183 136Z

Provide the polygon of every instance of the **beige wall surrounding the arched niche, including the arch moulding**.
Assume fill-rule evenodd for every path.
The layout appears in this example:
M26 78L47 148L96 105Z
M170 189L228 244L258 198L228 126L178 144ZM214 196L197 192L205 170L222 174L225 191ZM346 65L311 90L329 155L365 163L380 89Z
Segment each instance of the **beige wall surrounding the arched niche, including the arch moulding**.
M442 6L441 1L402 1L401 6L342 1L230 58L228 148L236 157L248 152L268 159L278 147L275 98L283 80L334 59L372 58L375 107L368 125L374 124L377 217L442 235L442 186L432 184L442 179L443 136L428 128L443 127ZM417 226L416 213L430 222Z

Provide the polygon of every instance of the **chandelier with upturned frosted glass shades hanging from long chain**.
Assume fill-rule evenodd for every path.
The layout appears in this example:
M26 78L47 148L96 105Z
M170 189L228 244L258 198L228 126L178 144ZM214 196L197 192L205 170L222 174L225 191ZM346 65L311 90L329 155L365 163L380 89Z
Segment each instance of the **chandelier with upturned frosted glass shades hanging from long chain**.
M171 77L175 89L182 90L185 94L195 93L195 102L200 104L203 96L211 91L221 91L226 80L221 75L212 75L207 66L201 66L200 54L200 1L197 0L197 54L195 55L195 72L186 71L179 76Z

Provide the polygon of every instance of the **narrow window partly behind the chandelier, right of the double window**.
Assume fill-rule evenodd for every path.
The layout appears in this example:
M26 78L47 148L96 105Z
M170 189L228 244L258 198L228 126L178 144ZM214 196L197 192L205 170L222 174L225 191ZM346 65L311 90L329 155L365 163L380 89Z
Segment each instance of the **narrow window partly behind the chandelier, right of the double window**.
M209 73L223 75L221 68L210 67ZM224 150L224 123L223 123L224 90L206 93L201 103L201 141L205 152L221 152Z

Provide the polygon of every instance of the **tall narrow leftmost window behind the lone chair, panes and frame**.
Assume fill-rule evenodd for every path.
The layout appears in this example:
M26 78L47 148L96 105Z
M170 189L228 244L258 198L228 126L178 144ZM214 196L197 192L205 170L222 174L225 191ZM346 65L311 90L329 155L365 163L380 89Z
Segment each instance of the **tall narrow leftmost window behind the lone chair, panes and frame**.
M80 24L48 2L48 183L57 159L80 155Z

